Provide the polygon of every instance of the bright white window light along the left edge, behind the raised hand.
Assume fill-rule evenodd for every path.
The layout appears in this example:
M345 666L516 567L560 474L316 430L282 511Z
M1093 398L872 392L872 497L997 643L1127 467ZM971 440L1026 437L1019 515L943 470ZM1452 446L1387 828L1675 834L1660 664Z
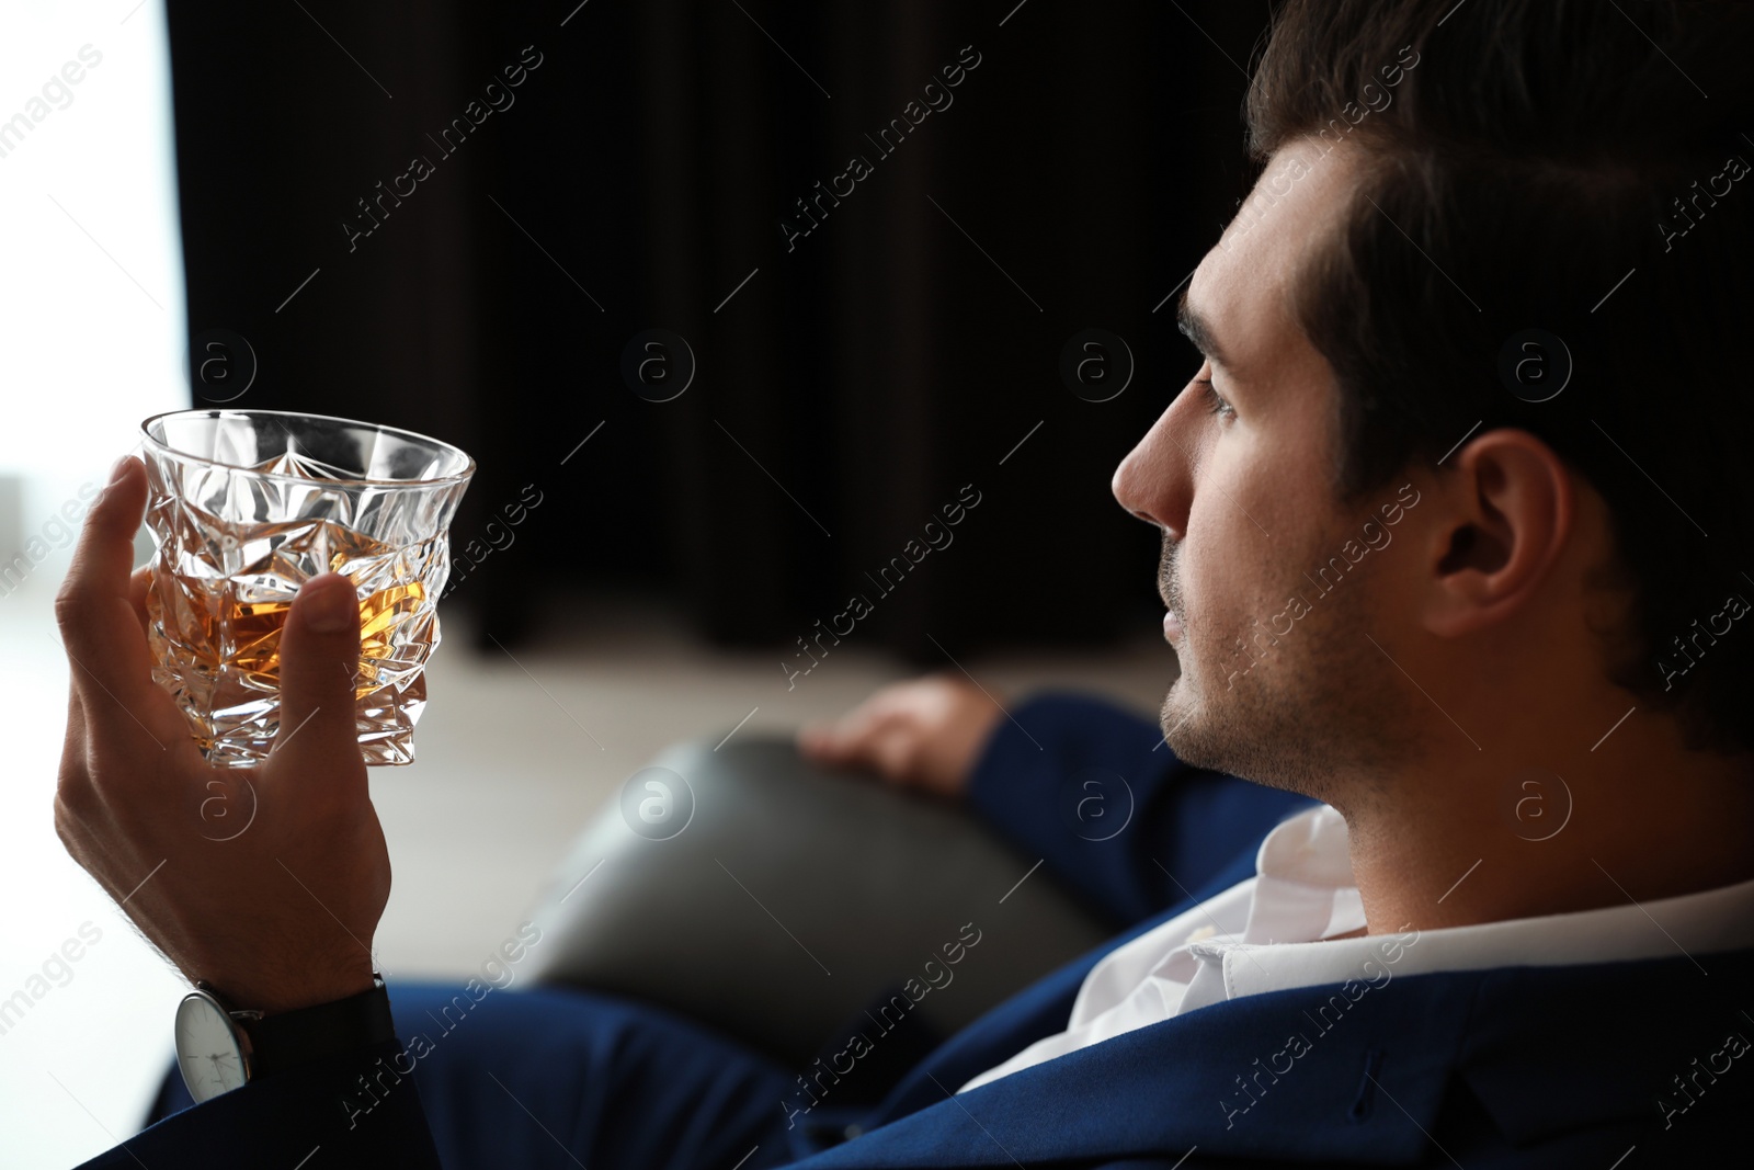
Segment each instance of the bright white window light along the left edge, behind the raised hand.
M51 598L140 419L188 405L163 0L7 0L0 37L0 1163L139 1128L181 981L68 860Z

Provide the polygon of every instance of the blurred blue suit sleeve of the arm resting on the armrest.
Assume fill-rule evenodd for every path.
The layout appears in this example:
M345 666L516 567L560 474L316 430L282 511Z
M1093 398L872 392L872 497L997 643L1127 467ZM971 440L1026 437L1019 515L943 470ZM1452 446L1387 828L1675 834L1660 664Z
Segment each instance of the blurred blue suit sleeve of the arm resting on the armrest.
M1182 763L1158 724L1047 693L988 740L968 802L1117 926L1191 898L1303 796Z

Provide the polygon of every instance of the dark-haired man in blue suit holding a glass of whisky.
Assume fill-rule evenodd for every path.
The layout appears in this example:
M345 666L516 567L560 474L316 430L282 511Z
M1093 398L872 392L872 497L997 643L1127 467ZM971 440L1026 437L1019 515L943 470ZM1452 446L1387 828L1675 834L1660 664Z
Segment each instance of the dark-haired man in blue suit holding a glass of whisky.
M1201 888L956 1035L803 1165L1633 1166L1733 1147L1754 1098L1740 9L1286 5L1249 96L1263 177L1182 303L1201 365L1114 482L1163 531L1173 758L1096 703L1014 712L1037 751L942 688L805 737L965 791L1110 905L1149 902L1152 861ZM203 770L149 681L139 579L130 595L142 500L126 461L61 598L79 665L56 823L116 893L170 858L128 912L191 979L324 1024L93 1165L431 1166L433 1135L456 1165L809 1152L774 1116L791 1070L556 993L500 996L419 1091L377 1074L349 1112L400 1052L328 1007L375 995L389 882L344 682L351 593L323 577L293 609L303 730L256 777L256 831L193 853ZM1075 865L1042 795L1119 760L1144 824ZM1205 768L1323 803L1212 865L1201 849L1294 805ZM282 868L312 896L286 898ZM519 1109L547 1138L514 1144L498 1121L528 1131Z

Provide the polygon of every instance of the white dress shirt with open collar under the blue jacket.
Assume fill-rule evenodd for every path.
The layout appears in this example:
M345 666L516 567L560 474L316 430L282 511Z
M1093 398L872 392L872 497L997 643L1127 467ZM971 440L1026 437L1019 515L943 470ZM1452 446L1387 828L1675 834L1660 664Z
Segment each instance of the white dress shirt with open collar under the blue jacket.
M1354 989L1380 988L1398 975L1430 972L1745 949L1754 945L1754 881L1642 905L1628 900L1575 914L1337 937L1363 926L1345 819L1328 805L1301 812L1261 842L1256 877L1110 951L1086 975L1065 1031L1037 1040L958 1091L1180 1012L1263 991L1347 981Z

